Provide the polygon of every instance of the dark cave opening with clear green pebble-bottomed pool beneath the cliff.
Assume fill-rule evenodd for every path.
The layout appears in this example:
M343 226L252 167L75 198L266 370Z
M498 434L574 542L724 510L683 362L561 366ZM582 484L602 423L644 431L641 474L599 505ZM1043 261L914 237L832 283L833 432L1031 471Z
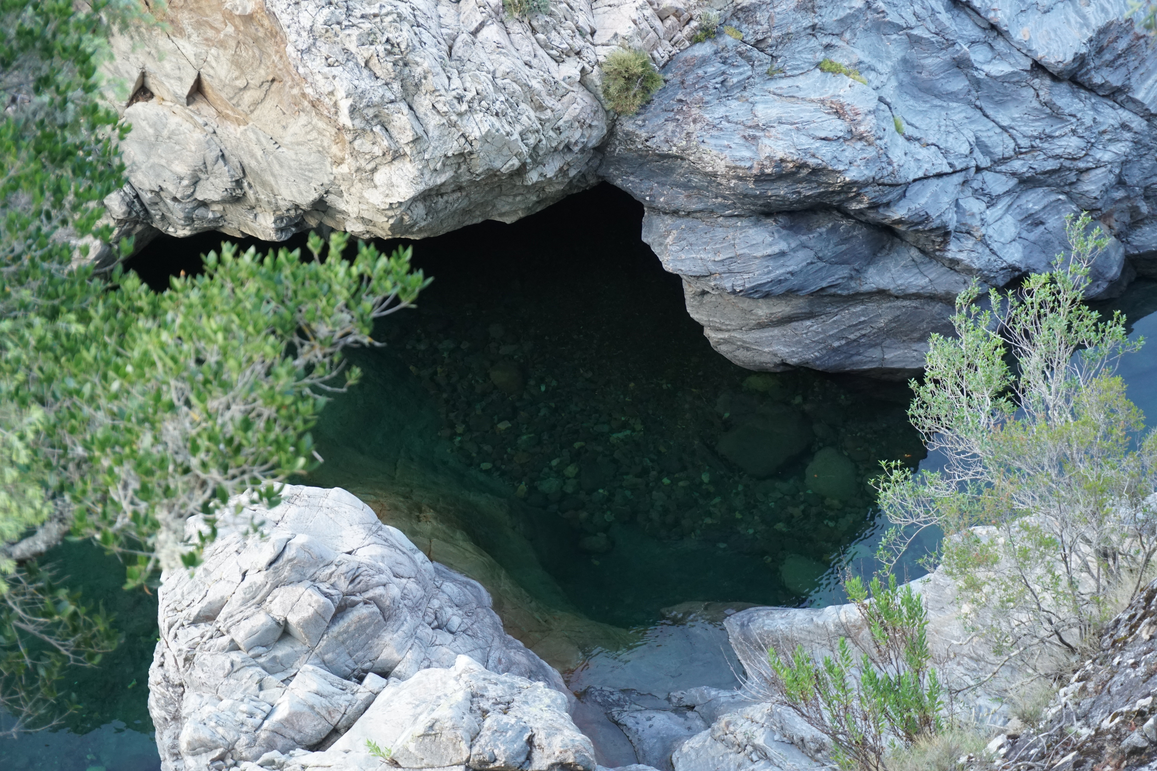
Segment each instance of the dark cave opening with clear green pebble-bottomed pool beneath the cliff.
M616 627L688 601L804 601L872 522L878 461L923 457L909 393L731 364L642 216L602 184L513 224L381 243L411 245L435 281L379 323L385 347L352 354L366 377L323 412L330 462L309 482L383 501L437 488L412 501L421 521L458 488L456 527L528 592ZM131 267L156 286L221 238L161 238ZM471 491L504 499L532 556L470 514Z

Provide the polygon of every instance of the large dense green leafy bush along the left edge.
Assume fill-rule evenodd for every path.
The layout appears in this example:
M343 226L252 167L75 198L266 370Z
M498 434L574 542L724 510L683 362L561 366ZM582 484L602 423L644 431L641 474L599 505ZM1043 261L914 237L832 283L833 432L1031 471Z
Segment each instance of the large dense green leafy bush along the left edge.
M51 722L65 667L116 635L36 558L66 535L127 563L127 586L182 569L185 519L314 466L325 395L358 379L341 353L426 286L408 251L361 245L312 261L223 245L205 273L153 292L80 259L105 195L124 184L127 126L95 99L110 24L131 0L0 0L0 707L16 729ZM121 254L131 244L121 244ZM67 709L66 704L57 704Z

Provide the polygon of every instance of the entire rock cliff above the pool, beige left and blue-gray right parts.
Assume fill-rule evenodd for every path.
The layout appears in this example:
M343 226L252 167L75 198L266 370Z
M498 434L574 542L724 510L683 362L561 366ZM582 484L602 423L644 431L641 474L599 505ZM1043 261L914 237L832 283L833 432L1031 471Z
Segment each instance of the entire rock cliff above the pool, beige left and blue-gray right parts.
M1115 237L1090 295L1157 274L1157 51L1128 6L172 0L113 39L133 129L109 210L123 233L422 237L602 177L736 363L912 371L970 281L1048 267L1067 214ZM618 45L666 86L616 121Z

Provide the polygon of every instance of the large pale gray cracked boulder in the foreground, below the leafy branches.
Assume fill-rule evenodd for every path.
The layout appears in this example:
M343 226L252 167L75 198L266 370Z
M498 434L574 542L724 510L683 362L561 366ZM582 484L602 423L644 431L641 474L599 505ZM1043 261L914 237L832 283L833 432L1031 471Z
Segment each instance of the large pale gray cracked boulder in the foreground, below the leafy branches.
M451 755L434 765L502 768L499 744L517 734L526 768L594 769L561 677L502 631L479 584L345 490L287 487L282 498L222 517L204 564L163 577L149 712L164 771L353 753L342 737L378 731L385 704L397 736L384 741L413 768ZM190 522L190 536L205 527Z

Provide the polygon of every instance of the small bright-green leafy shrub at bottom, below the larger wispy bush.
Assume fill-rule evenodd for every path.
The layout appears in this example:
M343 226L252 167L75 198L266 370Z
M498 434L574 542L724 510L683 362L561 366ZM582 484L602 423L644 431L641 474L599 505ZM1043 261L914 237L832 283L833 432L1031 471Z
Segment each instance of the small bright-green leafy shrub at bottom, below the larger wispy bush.
M865 650L854 657L841 637L835 657L817 663L802 645L790 655L774 647L765 684L773 700L791 709L827 736L841 768L883 771L890 747L907 747L943 729L942 688L931 668L928 616L909 585L858 578L846 590L867 629Z

